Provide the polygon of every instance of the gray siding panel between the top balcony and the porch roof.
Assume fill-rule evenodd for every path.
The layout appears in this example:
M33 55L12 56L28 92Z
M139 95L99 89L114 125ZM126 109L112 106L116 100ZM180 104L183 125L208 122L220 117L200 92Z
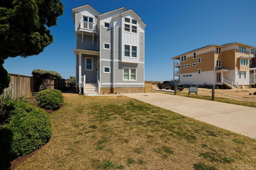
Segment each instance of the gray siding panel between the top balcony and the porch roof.
M97 51L97 48L98 48L97 41L98 41L97 36L94 36L94 44L93 44L92 36L84 35L84 43L82 43L82 34L77 34L76 35L76 49Z

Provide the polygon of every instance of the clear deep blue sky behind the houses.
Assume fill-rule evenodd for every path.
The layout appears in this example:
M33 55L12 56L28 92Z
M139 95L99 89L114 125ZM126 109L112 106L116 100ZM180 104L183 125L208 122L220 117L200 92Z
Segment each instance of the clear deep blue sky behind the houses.
M54 43L42 53L8 58L9 73L32 76L32 70L56 71L67 79L75 76L75 35L72 8L90 4L98 12L133 9L145 28L145 80L173 78L170 59L206 45L240 42L256 46L255 0L62 0L64 15L50 27Z

